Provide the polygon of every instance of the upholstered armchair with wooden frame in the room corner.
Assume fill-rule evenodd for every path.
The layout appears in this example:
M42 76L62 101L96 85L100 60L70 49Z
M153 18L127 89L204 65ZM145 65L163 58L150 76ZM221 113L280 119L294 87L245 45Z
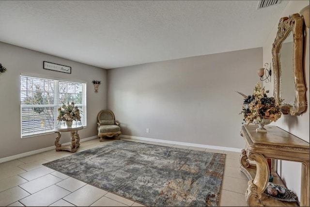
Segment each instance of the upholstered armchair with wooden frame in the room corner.
M98 137L100 142L103 142L103 136L116 137L118 139L121 132L119 123L115 121L114 113L110 110L103 110L98 113Z

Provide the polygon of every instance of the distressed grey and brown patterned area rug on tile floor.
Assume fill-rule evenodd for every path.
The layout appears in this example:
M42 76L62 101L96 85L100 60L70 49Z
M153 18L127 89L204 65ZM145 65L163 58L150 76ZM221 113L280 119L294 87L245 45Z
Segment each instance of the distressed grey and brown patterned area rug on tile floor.
M218 206L225 154L115 141L43 165L147 206Z

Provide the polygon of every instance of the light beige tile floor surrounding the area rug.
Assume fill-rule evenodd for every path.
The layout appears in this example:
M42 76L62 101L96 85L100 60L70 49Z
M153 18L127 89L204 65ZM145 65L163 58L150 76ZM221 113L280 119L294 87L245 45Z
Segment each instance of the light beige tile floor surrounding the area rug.
M122 139L206 152L225 153L224 179L219 206L246 206L245 191L248 185L248 178L239 170L240 153L177 144ZM117 142L117 140L99 142L99 139L93 139L82 142L76 153L111 142ZM72 155L72 153L50 150L0 163L0 206L143 206L140 203L88 185L42 165L43 163L69 155Z

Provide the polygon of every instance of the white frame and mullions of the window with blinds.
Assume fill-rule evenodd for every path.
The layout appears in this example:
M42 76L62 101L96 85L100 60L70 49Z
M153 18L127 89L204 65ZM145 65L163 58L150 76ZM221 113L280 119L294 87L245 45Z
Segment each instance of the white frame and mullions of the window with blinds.
M21 79L22 77L28 77L28 78L33 78L33 79L43 79L43 80L52 80L54 81L54 103L51 105L30 105L30 104L22 104L21 101L21 92L22 92L22 85L21 85ZM81 111L81 116L82 116L82 126L85 128L87 127L87 82L84 81L79 81L79 80L64 80L64 79L58 79L58 78L51 78L51 77L44 77L40 75L29 75L29 74L20 74L20 87L19 87L19 99L20 99L20 137L21 138L28 138L28 137L34 137L34 136L40 136L44 134L51 134L54 133L54 128L55 127L60 127L61 125L64 125L64 121L59 122L57 120L58 116L58 108L62 106L62 104L57 104L59 103L59 82L70 82L70 83L81 83L82 84L82 104L76 104L78 108ZM32 89L33 90L33 89ZM23 134L23 126L22 126L22 109L29 108L29 107L53 107L54 108L54 122L53 122L53 129L50 130L42 130L39 132L31 132L31 133L24 133ZM31 119L30 119L31 120ZM33 120L33 119L32 119ZM78 124L78 126L81 126Z

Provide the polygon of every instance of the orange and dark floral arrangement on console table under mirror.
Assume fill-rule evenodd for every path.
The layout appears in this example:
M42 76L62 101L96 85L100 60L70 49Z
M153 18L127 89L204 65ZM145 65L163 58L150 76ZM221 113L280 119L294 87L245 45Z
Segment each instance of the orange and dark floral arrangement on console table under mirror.
M281 117L282 101L278 103L274 97L267 97L266 93L269 93L269 90L265 91L259 82L256 83L253 92L253 95L249 96L237 92L244 97L242 111L239 114L243 114L243 121L246 123L257 124L259 127L256 131L266 132L263 126L276 122Z

